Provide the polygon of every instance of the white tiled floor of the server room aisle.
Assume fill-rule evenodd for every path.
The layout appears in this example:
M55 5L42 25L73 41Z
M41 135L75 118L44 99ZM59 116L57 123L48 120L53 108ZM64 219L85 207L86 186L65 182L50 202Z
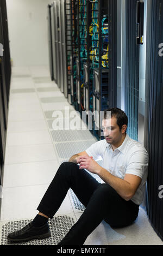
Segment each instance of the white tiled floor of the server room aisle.
M35 217L36 207L60 163L96 141L86 130L53 129L54 111L64 113L65 107L74 111L51 81L48 68L12 68L0 223L2 245L7 243L5 237L12 226L16 228ZM59 228L65 230L65 227L70 228L70 222L77 221L83 210L76 195L69 190L51 223L51 227L55 227L54 237L42 244L57 244L61 240L56 228L58 220L61 220ZM64 235L65 231L61 232ZM55 237L58 238L55 240ZM112 229L102 222L85 245L163 245L163 242L140 207L139 217L133 225Z

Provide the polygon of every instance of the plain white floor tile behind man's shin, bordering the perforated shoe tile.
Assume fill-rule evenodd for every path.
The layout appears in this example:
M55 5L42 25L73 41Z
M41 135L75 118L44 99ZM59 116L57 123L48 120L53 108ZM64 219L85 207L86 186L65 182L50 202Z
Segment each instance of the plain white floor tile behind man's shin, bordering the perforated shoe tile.
M38 213L37 206L49 184L17 188L4 188L2 199L1 221L34 218ZM66 196L57 215L73 213L69 198Z

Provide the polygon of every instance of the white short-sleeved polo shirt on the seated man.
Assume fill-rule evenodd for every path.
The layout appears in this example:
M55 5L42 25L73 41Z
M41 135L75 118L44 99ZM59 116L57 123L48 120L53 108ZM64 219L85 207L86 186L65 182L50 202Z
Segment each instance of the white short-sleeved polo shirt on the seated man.
M131 200L137 205L142 203L148 175L148 153L145 147L127 134L122 145L114 151L106 140L100 140L87 148L86 153L94 160L102 158L102 167L114 176L122 179L126 174L139 176L142 181Z

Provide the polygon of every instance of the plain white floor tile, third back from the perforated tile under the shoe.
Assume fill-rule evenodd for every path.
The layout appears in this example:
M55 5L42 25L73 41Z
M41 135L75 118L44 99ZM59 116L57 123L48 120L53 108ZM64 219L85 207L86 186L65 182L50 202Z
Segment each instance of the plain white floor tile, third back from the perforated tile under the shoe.
M53 144L8 146L5 164L57 160Z

